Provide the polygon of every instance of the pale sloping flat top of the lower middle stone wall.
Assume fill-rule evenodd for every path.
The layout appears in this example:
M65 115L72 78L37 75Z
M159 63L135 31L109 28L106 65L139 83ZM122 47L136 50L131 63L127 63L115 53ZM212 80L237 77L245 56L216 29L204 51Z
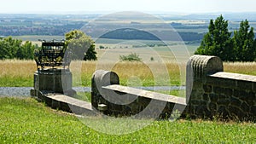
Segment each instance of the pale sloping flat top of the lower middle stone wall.
M149 98L157 101L166 101L166 102L177 103L177 104L186 106L185 98L177 97L174 95L160 94L153 91L126 87L119 84L103 86L102 89L113 90L113 91L117 91L125 94L137 95L137 96L141 96L141 97L145 97L145 98Z

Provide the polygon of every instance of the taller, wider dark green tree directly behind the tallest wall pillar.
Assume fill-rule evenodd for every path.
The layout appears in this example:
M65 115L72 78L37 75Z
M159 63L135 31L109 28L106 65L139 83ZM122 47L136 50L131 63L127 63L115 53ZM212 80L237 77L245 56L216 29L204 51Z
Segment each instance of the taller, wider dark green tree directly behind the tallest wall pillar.
M203 37L196 55L216 55L221 60L235 60L233 42L228 30L228 20L222 15L216 20L210 20L208 32Z

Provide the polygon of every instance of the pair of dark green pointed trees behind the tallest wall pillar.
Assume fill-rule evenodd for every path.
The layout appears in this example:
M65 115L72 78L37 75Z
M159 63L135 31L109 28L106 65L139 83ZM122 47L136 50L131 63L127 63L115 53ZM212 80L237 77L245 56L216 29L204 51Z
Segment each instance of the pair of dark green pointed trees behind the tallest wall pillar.
M222 15L216 20L210 20L208 32L203 37L196 55L216 55L225 61L253 61L256 60L256 40L253 27L248 20L242 20L239 30L228 30L228 20Z

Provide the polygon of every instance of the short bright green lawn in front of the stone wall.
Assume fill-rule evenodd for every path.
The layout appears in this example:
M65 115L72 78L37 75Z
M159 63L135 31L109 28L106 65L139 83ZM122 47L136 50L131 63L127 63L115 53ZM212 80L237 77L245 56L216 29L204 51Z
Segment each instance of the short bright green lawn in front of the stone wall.
M31 98L0 98L0 143L253 143L255 138L255 124L201 120L154 121L128 135L107 135Z

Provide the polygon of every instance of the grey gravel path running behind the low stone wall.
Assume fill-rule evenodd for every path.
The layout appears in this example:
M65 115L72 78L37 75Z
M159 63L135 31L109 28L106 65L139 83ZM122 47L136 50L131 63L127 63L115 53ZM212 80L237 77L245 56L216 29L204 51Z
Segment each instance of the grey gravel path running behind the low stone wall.
M174 90L186 89L185 86L156 86L156 87L136 87L145 90ZM32 87L0 87L0 96L30 96ZM90 92L90 87L73 87L77 92Z

